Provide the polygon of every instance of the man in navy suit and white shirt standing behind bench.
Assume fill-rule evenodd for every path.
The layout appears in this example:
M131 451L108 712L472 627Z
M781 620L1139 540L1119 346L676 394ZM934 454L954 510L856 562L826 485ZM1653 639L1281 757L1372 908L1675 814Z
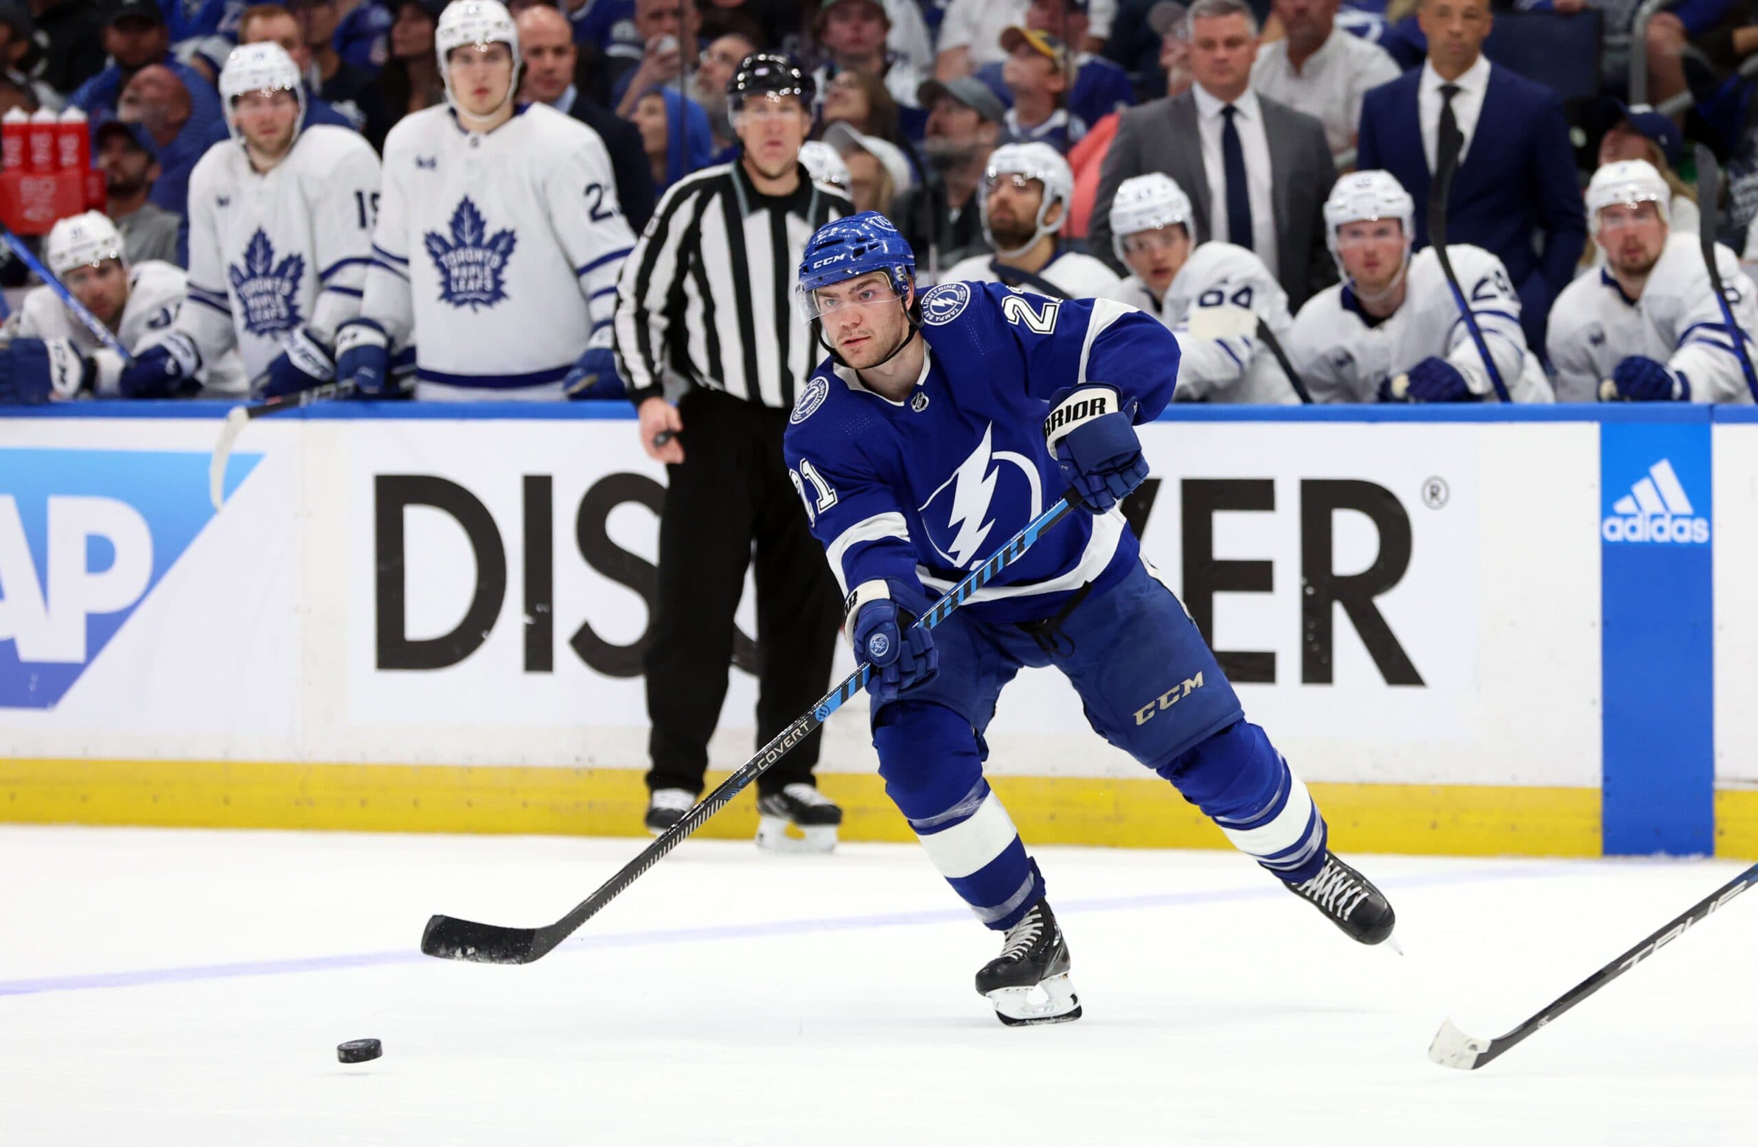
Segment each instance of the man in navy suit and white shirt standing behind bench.
M1427 202L1435 141L1450 118L1464 149L1447 202L1447 241L1501 260L1521 295L1526 341L1544 346L1551 304L1587 242L1563 102L1484 58L1489 0L1422 0L1417 23L1427 61L1366 95L1355 167L1385 169L1417 204ZM1415 232L1426 244L1427 211L1417 211ZM1535 232L1544 232L1542 246Z

